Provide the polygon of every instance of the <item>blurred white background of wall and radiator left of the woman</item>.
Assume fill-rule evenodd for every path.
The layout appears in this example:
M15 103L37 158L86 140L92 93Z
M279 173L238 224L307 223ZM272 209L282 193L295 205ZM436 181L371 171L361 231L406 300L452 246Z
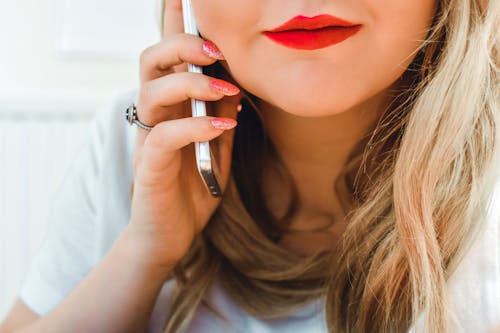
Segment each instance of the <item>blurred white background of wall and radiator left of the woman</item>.
M89 121L138 88L159 26L159 0L0 0L0 318Z

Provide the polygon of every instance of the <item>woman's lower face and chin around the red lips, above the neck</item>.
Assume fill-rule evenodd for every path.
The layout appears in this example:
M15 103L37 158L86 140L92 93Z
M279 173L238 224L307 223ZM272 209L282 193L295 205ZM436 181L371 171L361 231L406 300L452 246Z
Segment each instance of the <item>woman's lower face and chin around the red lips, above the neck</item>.
M314 5L279 0L193 0L202 36L224 54L234 80L287 113L325 117L382 94L404 73L434 15L434 0L360 0ZM361 26L318 49L294 49L265 36L296 16L331 15ZM333 23L332 23L333 24ZM293 28L293 27L292 27Z

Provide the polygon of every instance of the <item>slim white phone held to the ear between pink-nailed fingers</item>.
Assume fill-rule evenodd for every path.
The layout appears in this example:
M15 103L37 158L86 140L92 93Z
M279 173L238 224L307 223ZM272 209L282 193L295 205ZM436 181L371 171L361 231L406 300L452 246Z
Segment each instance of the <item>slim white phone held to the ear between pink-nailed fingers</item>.
M193 7L191 0L182 0L182 14L184 18L184 32L199 36L198 27L194 18ZM197 65L188 64L188 71L192 73L203 73L202 68ZM204 117L207 115L205 101L191 99L191 112L193 117ZM208 191L214 197L220 197L221 189L215 176L216 165L213 161L210 152L210 144L208 141L195 142L196 164L203 182Z

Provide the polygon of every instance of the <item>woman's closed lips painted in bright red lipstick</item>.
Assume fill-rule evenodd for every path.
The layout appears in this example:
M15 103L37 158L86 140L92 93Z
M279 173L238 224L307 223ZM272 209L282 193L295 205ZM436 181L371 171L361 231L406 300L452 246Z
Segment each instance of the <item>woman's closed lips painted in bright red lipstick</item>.
M352 23L331 15L307 17L298 15L279 27L264 31L272 41L299 50L316 50L340 43L361 29Z

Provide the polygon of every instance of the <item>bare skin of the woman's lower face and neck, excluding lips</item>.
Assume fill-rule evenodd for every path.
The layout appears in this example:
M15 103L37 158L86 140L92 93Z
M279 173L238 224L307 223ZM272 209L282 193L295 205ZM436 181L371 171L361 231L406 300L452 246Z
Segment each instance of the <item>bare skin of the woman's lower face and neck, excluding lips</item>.
M427 35L435 1L192 4L201 35L218 46L223 65L239 85L260 100L271 140L298 187L301 208L292 227L312 229L337 221L329 233L290 236L284 245L300 252L328 246L345 228L345 212L333 186L325 184L335 183L353 146L373 129L391 100ZM284 47L262 34L298 14L331 14L363 27L342 43L312 51ZM279 215L286 196L275 179L268 177L266 192Z

